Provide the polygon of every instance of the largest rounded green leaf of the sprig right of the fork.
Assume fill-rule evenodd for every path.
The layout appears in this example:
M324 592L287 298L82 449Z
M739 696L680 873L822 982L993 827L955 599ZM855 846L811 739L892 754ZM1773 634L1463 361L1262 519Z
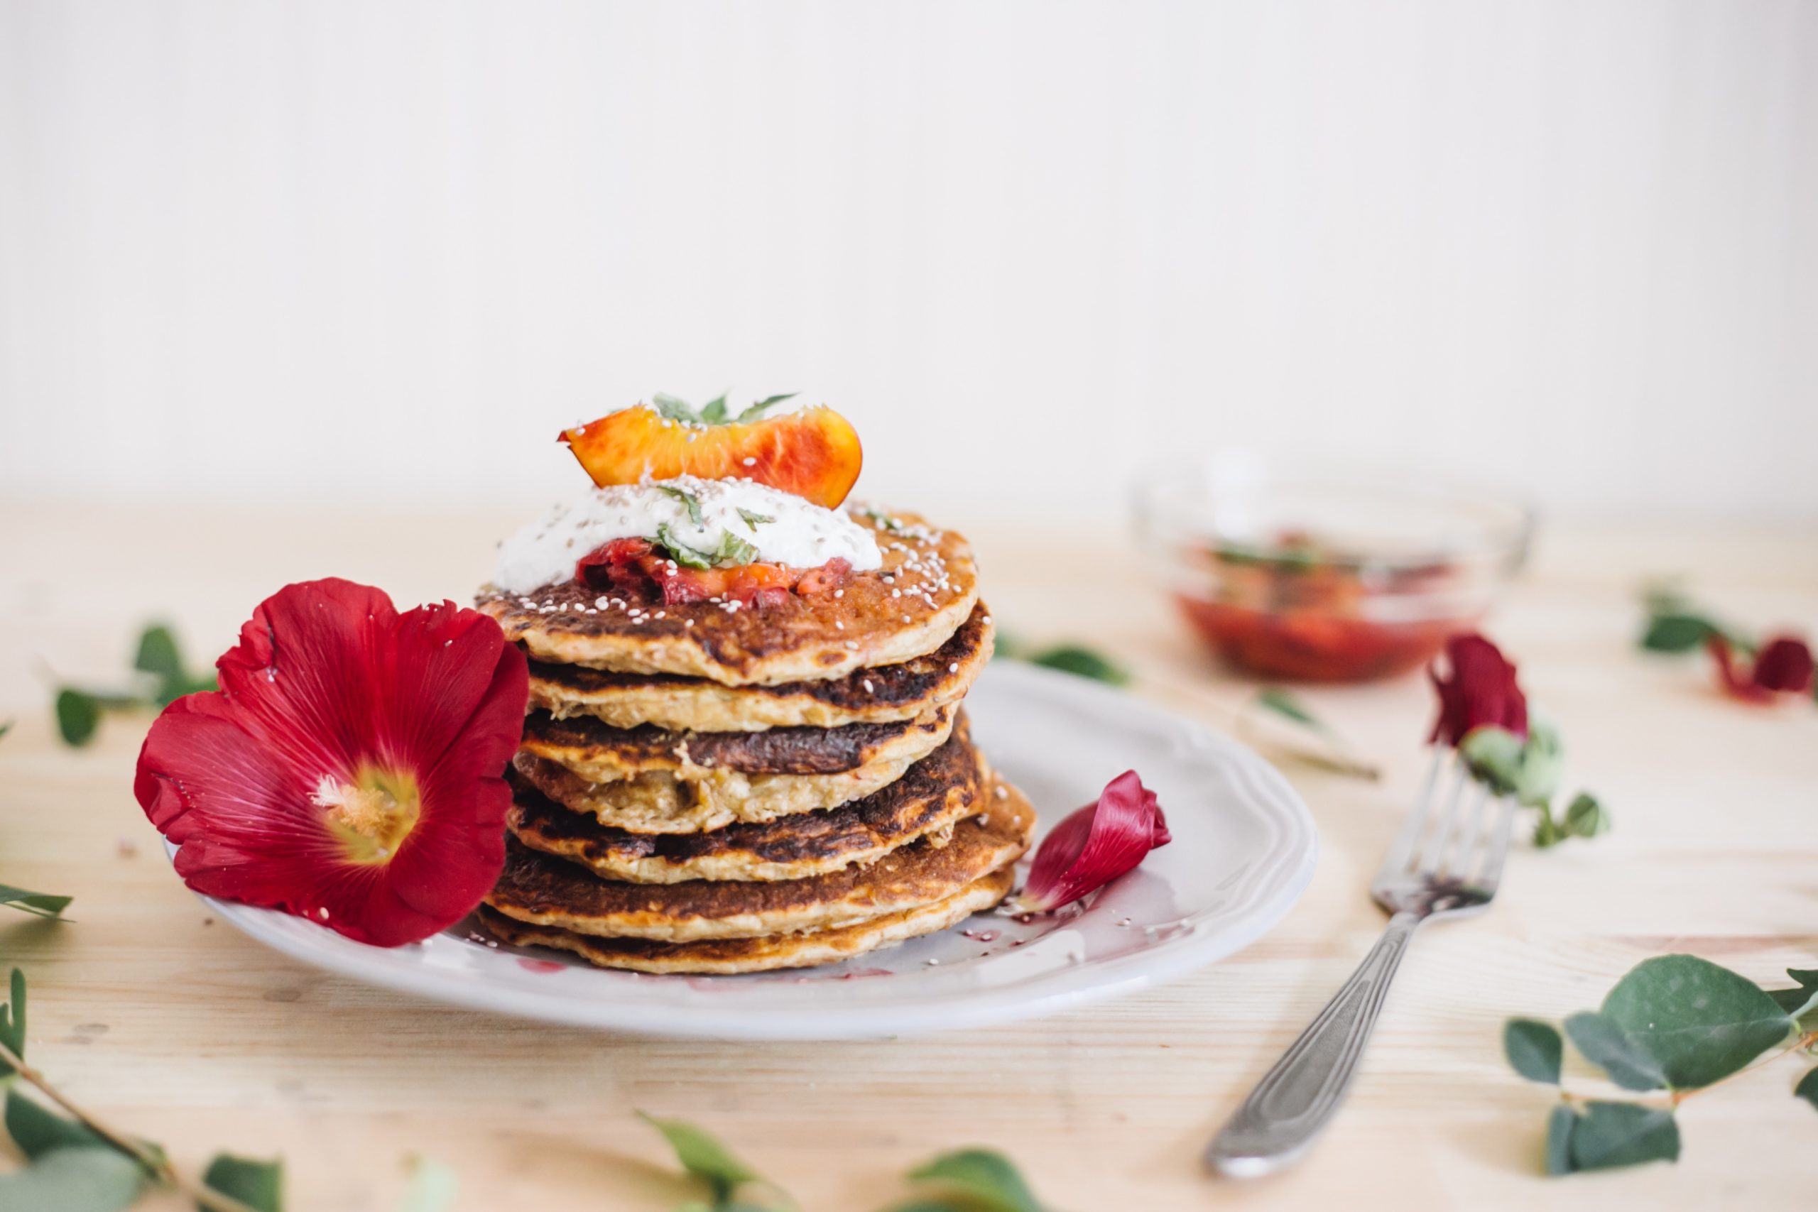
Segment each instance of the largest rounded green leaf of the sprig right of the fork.
M1603 1016L1658 1063L1674 1090L1727 1078L1793 1030L1760 985L1698 956L1643 959L1603 998Z

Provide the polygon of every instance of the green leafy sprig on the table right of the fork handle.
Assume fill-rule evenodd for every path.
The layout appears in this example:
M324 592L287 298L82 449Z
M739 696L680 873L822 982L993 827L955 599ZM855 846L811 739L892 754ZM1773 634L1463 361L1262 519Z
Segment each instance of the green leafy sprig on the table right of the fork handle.
M1765 990L1698 956L1658 956L1616 981L1600 1008L1567 1018L1580 1056L1653 1098L1587 1099L1562 1087L1547 1118L1547 1174L1678 1161L1682 1101L1789 1052L1818 1054L1818 969L1787 976L1794 988ZM1551 1023L1509 1019L1502 1047L1522 1078L1560 1085L1565 1047ZM1818 1108L1818 1067L1793 1094Z

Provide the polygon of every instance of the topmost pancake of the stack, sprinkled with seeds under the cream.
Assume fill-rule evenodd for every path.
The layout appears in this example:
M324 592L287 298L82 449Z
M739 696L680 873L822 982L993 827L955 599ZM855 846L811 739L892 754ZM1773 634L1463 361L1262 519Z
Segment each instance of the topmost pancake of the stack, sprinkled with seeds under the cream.
M838 596L789 594L765 609L651 603L633 614L640 603L564 581L529 594L485 585L478 609L538 661L724 685L844 678L942 647L978 601L973 549L911 514L849 512L876 531L884 567L854 572Z

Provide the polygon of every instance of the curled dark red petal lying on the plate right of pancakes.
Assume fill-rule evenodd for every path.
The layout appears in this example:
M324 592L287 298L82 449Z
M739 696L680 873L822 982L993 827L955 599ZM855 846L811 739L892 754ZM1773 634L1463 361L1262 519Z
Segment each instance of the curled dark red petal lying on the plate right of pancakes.
M1171 841L1154 792L1136 770L1105 785L1098 803L1071 812L1036 847L1018 907L1045 912L1071 905L1133 870L1149 850Z

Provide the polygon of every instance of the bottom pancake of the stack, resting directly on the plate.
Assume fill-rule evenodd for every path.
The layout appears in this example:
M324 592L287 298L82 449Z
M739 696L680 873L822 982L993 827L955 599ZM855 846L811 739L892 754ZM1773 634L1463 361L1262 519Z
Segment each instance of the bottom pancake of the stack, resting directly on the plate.
M880 947L893 947L918 934L945 930L1009 896L1014 878L1013 869L1002 867L989 876L974 879L945 899L831 930L705 939L700 943L593 938L560 927L516 921L484 905L478 918L480 925L507 943L569 950L602 969L734 976L738 972L771 972L776 969L807 969L820 963L838 963L840 959L851 959Z

